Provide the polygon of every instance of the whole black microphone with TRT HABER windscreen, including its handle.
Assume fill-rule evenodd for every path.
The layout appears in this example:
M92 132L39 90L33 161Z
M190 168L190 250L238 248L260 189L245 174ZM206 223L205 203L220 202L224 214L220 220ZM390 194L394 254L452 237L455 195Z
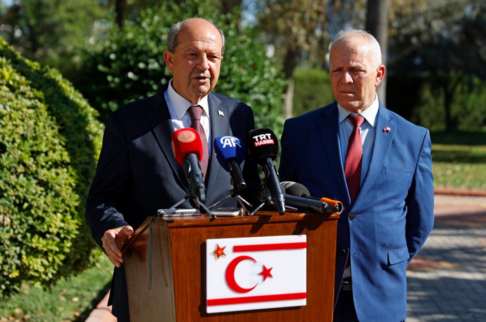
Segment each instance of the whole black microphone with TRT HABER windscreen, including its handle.
M279 214L285 213L285 198L277 169L273 161L278 156L277 136L271 129L252 129L248 133L248 150L263 169L264 184L270 191L270 196Z

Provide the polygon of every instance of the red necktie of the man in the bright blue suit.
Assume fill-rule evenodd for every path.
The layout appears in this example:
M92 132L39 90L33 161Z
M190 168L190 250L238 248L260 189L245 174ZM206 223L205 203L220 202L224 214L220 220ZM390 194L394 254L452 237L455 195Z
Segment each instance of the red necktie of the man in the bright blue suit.
M354 126L353 132L347 143L346 162L344 163L344 175L346 177L347 190L351 197L351 204L360 191L361 162L363 160L363 144L361 143L360 126L364 117L361 115L348 115L347 118Z

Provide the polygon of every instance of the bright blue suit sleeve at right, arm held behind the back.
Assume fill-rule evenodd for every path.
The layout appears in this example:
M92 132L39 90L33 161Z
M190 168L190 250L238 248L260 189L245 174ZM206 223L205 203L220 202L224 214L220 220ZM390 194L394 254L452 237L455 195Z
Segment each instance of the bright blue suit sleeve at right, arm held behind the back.
M410 255L408 262L417 255L434 227L433 180L431 141L429 130L426 129L407 196L405 235Z

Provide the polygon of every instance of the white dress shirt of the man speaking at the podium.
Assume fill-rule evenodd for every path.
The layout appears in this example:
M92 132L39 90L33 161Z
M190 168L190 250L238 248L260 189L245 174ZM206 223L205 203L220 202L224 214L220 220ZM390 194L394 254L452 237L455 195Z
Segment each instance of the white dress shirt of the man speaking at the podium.
M192 103L180 96L172 87L172 79L169 81L169 87L164 92L165 101L169 108L169 113L172 118L172 125L174 130L191 127L191 116L187 113L187 109L191 107ZM211 127L209 126L209 105L208 96L203 97L197 105L203 108L201 114L201 125L206 132L206 138L208 139L208 151L211 151ZM209 152L209 159L211 153Z

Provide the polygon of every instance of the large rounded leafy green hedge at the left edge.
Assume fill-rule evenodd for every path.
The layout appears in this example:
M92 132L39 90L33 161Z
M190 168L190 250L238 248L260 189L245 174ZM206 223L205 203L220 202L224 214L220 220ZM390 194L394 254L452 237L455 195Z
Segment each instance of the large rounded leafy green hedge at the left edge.
M0 38L0 296L82 271L103 126L59 72Z

